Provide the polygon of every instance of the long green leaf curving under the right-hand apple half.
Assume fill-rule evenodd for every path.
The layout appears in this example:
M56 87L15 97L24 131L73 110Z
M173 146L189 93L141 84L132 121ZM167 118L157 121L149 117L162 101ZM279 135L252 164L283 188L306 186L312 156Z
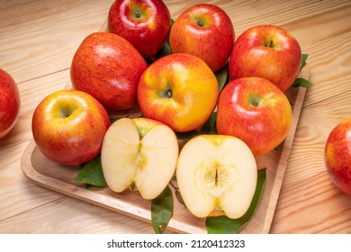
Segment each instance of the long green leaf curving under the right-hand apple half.
M238 219L229 219L227 216L216 216L206 218L206 229L209 234L237 234L238 231L254 215L257 204L261 197L264 184L266 183L266 168L257 171L257 187L251 205L247 212ZM235 202L233 202L235 203Z

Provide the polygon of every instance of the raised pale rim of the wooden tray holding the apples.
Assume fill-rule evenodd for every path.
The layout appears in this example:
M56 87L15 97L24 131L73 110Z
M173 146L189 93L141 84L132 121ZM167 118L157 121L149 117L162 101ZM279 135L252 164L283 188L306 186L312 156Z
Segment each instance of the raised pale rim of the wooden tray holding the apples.
M309 73L306 74L306 71L303 71L302 76L309 76ZM280 190L283 184L288 158L293 147L295 131L297 129L300 114L302 112L302 105L307 88L300 86L297 87L297 89L298 90L293 105L292 128L289 131L286 139L284 140L284 146L282 149L281 157L279 158L279 162L276 169L276 175L274 177L273 186L270 192L266 216L264 219L262 229L260 230L261 234L269 233L269 230L271 228L272 220L275 215L276 203L278 201ZM34 151L35 148L36 144L34 140L31 139L30 143L23 151L23 156L21 157L21 166L23 169L23 173L31 180L32 183L38 184L42 187L48 188L58 193L71 196L81 201L93 203L111 211L120 212L121 214L130 216L138 220L151 222L150 211L139 208L136 205L131 205L129 203L119 201L117 198L113 199L112 201L109 197L104 196L102 194L97 194L94 193L94 191L86 190L85 188L78 187L75 184L69 184L54 177L40 174L40 172L35 170L35 168L31 164L31 153ZM169 221L167 229L173 230L177 233L206 233L205 229L199 229L197 227L194 227L193 225L185 223L184 221L175 220L173 218Z

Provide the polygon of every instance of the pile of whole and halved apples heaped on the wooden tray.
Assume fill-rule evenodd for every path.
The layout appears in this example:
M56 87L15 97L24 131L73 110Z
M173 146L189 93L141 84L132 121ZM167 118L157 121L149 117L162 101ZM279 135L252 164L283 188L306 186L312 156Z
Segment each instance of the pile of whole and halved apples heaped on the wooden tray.
M176 175L195 216L239 218L256 190L256 157L290 129L284 91L299 74L302 52L273 25L234 41L233 23L216 5L195 4L173 23L162 1L115 1L108 31L88 35L76 50L73 90L50 94L34 112L37 146L64 165L101 155L113 191L138 191L148 200ZM171 53L155 59L166 46ZM223 67L230 82L220 91L216 73ZM111 114L136 108L143 117L110 124ZM180 148L176 133L201 129L215 111L218 134Z

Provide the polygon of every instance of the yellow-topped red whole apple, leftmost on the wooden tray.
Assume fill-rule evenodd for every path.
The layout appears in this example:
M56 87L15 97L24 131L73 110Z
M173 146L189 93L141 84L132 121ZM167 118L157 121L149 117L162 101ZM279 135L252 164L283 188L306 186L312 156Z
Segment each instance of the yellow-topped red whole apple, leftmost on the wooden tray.
M45 157L61 165L76 166L100 153L110 118L92 95L61 90L38 104L31 123L33 139Z

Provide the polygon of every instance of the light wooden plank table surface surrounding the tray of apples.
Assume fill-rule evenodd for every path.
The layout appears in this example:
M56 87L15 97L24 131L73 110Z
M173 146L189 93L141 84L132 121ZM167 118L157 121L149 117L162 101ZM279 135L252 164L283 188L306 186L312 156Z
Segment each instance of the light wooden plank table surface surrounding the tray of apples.
M192 4L165 1L175 19ZM258 24L290 31L309 54L302 107L271 233L351 233L351 197L329 180L323 150L330 130L351 116L351 1L208 1L230 16L236 35ZM45 189L23 175L31 116L70 82L80 42L98 31L112 0L0 0L0 67L19 86L19 121L0 140L0 233L153 233L151 225Z

